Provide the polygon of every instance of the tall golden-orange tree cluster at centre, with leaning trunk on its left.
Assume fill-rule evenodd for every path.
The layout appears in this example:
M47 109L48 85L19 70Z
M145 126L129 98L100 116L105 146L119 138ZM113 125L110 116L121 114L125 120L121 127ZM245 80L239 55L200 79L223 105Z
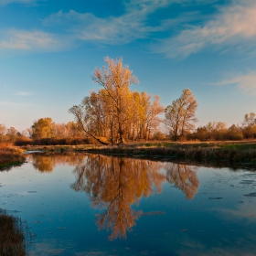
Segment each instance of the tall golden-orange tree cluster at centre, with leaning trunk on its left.
M122 59L105 59L107 67L95 69L92 80L101 85L91 91L80 105L69 109L84 133L101 144L123 144L126 140L148 139L160 123L164 112L160 99L146 92L130 89L138 83L133 71Z

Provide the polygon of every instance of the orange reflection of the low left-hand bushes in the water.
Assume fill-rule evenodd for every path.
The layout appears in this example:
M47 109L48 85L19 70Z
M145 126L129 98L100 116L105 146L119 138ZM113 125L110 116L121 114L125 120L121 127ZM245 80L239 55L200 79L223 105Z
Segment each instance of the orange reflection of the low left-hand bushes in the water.
M57 165L82 165L84 158L86 155L80 154L31 154L32 157L32 165L38 171L45 173L45 172L52 172L53 169Z

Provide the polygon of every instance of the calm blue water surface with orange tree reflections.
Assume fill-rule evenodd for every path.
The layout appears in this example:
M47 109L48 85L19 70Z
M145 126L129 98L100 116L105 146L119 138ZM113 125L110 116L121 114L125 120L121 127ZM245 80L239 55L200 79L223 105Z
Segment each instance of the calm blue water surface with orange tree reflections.
M105 155L27 155L0 208L28 255L255 255L256 172Z

